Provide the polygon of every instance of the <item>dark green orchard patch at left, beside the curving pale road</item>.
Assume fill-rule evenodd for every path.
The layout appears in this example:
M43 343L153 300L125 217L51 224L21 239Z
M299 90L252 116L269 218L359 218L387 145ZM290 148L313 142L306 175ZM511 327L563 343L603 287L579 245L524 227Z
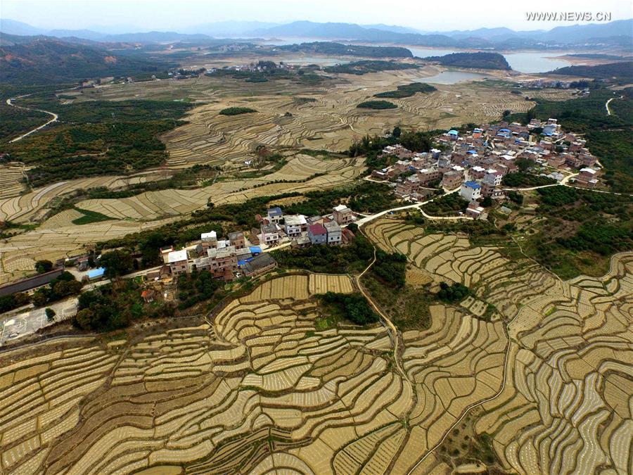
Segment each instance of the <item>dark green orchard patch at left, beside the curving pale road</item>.
M158 136L182 123L177 118L191 107L174 101L98 101L61 106L51 96L27 98L24 102L58 111L61 121L61 125L4 147L11 160L34 165L27 172L32 186L120 175L160 165L167 153ZM151 118L153 115L158 119Z

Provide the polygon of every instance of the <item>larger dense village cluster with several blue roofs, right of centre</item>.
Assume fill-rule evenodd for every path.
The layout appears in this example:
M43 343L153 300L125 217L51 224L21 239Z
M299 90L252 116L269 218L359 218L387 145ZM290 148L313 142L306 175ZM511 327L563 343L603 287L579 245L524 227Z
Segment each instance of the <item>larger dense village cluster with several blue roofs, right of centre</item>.
M535 132L537 141L533 140ZM504 199L501 180L517 172L516 161L525 158L546 171L542 175L557 181L565 177L563 170L580 170L573 179L577 185L594 187L599 183L597 159L584 139L563 132L556 119L533 119L527 126L516 122L486 124L463 135L449 130L436 141L444 151L433 148L414 153L399 144L385 147L383 156L398 160L390 167L374 170L373 179L393 182L396 196L410 201L422 201L437 187L460 188L469 201L486 196ZM473 198L475 195L477 198Z

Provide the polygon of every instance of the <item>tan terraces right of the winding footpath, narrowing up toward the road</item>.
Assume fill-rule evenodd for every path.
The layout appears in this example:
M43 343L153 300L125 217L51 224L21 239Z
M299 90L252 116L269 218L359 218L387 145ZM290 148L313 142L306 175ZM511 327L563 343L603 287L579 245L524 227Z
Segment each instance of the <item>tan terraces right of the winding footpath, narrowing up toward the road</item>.
M560 281L530 262L473 247L465 237L425 234L392 220L366 231L436 279L470 286L509 322L504 391L482 405L485 413L475 424L478 433L492 436L506 469L631 473L633 253L614 256L605 277ZM471 300L465 304L478 302ZM435 315L432 321L435 327ZM462 317L459 325L471 322ZM435 329L441 331L446 329ZM433 346L427 353L442 351L450 352ZM496 376L502 378L501 372Z

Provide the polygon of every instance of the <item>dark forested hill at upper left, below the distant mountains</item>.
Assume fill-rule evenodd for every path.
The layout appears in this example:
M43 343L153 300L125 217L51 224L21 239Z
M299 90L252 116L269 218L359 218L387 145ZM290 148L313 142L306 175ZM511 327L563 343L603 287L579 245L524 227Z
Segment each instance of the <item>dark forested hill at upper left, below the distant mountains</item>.
M155 72L167 67L165 63L52 38L39 37L0 47L0 81L14 84L69 83L85 78Z

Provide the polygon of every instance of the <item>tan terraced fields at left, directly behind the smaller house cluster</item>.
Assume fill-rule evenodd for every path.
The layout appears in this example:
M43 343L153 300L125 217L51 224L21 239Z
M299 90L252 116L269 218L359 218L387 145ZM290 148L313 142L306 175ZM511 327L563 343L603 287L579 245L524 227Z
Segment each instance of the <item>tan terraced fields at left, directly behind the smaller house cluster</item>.
M194 210L206 208L208 201L220 205L287 191L324 189L350 183L363 170L363 158L322 160L298 154L289 158L281 170L261 178L227 180L195 190L167 189L130 198L82 201L77 207L102 213L113 220L76 225L72 220L78 213L65 210L44 221L37 229L4 240L0 243L0 284L32 272L36 260L54 261L72 255L85 245L159 227ZM324 175L308 179L316 174ZM92 186L113 186L121 179L101 177L49 185L32 194L9 198L4 203L0 201L0 210L5 210L6 219L29 222L37 213L46 213L44 205L53 196L86 186L88 181ZM280 180L288 183L274 183Z

